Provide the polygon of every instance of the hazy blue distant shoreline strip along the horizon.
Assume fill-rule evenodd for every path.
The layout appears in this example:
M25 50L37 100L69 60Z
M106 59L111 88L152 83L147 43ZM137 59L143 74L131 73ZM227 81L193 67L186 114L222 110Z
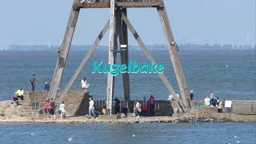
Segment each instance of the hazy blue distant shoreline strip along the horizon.
M60 46L48 46L48 45L10 45L0 46L0 51L58 51ZM129 50L141 50L140 46L128 46ZM167 50L166 45L147 45L149 50ZM199 44L179 44L179 50L256 50L256 45L199 45ZM90 50L90 45L84 46L71 46L70 50ZM97 50L108 50L108 46L98 46Z

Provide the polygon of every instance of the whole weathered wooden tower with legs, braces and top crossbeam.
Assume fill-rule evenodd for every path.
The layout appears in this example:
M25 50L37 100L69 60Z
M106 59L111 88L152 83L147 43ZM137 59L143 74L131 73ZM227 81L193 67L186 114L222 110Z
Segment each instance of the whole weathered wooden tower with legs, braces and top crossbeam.
M182 70L182 64L178 56L178 46L174 41L174 36L170 29L170 23L166 13L166 7L162 0L94 0L81 2L81 0L74 0L70 12L70 18L66 26L66 33L62 42L61 47L58 50L58 60L54 69L54 75L51 82L51 88L49 97L55 98L58 103L62 102L68 90L74 83L75 79L78 77L78 74L81 72L83 66L86 64L87 60L94 53L94 50L98 46L98 43L101 41L106 31L109 29L109 50L108 50L108 63L114 64L116 62L117 54L121 54L122 64L128 63L128 29L133 34L134 38L138 42L138 45L142 48L146 57L151 60L153 63L157 63L153 55L150 54L150 51L147 50L146 45L140 38L139 34L135 30L134 26L130 23L127 18L127 9L128 8L155 8L158 12L160 22L162 23L162 30L166 37L166 42L168 46L168 51L170 54L171 62L174 66L174 73L178 82L178 87L181 92L181 99L178 98L175 94L173 86L167 80L164 74L158 74L162 79L162 82L165 84L167 90L170 94L174 96L176 102L181 106L182 110L186 110L191 107L189 91L186 85L186 79ZM94 44L91 46L90 50L85 54L82 62L78 66L78 69L75 71L74 75L67 83L64 90L61 94L58 94L58 86L62 79L63 70L66 64L67 56L70 50L70 44L72 42L75 26L78 21L79 11L81 9L89 8L109 8L110 9L110 19L106 22L106 25L103 27L98 38L96 38ZM121 48L119 48L121 47ZM124 98L126 101L130 101L130 84L129 84L129 74L122 74L123 88L124 88ZM58 97L57 97L58 95ZM106 108L108 111L111 111L112 102L114 96L114 76L111 74L107 75L107 90L106 90ZM110 113L111 114L111 113Z

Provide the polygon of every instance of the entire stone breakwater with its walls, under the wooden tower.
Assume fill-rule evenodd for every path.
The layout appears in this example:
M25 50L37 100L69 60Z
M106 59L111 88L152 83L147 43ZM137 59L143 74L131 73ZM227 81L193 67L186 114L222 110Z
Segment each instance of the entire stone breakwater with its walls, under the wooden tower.
M61 92L60 92L61 93ZM186 114L174 113L174 103L158 100L155 102L154 117L134 118L132 114L128 118L98 118L89 119L88 98L89 94L82 91L70 90L64 102L66 114L70 115L64 120L45 118L43 114L43 102L47 93L33 92L26 93L22 106L16 106L12 101L0 102L0 122L53 122L53 123L149 123L149 122L256 122L256 101L237 100L232 101L231 110L223 110L225 113L218 113L216 107L203 106L200 100L193 101L193 110ZM103 101L95 101L95 110L101 111ZM37 104L37 107L34 106ZM130 113L133 105L131 103ZM230 111L227 113L227 111ZM59 115L56 114L57 118ZM106 116L106 115L105 115Z

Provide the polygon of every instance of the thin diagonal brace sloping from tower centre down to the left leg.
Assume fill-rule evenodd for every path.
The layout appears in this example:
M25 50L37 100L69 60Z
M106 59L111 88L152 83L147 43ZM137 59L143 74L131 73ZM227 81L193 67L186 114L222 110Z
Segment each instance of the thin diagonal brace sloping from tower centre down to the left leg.
M88 61L90 56L94 53L94 50L96 50L98 43L102 40L102 37L104 36L104 34L106 34L106 31L109 29L109 26L110 26L110 21L106 22L106 25L103 27L100 34L98 34L98 38L96 38L94 45L90 47L90 50L86 53L84 58L82 58L82 62L79 64L78 69L74 72L72 78L67 83L65 89L62 91L62 94L57 99L57 103L62 102L63 98L66 96L67 91L70 90L70 87L73 85L75 79L78 77L78 74L80 74L80 72L82 71L82 68L86 65L86 62Z

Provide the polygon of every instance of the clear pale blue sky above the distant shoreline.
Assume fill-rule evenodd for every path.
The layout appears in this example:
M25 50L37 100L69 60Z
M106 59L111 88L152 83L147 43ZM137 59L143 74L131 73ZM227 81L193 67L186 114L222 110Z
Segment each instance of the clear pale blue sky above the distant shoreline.
M73 0L1 0L0 46L60 45ZM177 42L256 44L256 0L164 0ZM91 45L109 9L81 10L73 45ZM129 9L128 18L146 44L165 44L155 9ZM137 45L131 34L129 43ZM108 33L100 45L108 44Z

